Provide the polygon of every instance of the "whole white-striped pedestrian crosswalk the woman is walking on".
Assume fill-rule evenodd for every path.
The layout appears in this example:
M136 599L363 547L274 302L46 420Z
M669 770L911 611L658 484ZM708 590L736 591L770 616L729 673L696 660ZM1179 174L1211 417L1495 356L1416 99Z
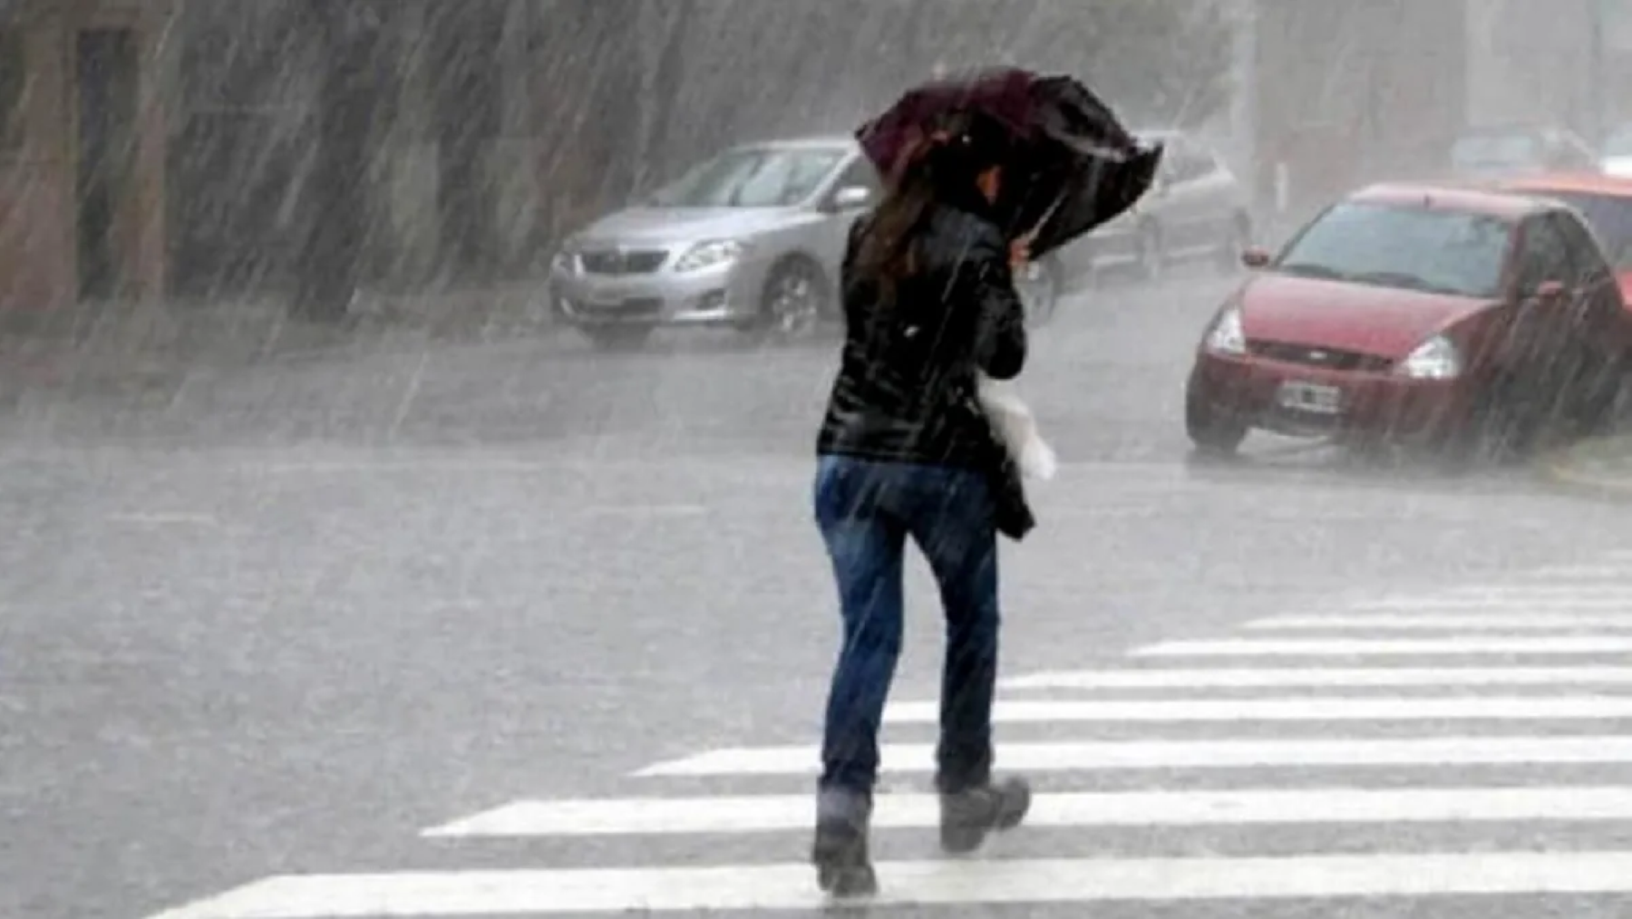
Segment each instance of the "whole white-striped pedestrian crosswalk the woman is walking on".
M1353 898L1549 896L1632 914L1632 553L1338 606L1005 679L999 767L1036 785L1027 826L974 859L886 846L873 901L914 916L1106 903L1200 916L1208 901L1332 916ZM875 832L934 836L937 717L935 700L888 707ZM816 769L813 744L705 749L633 772L628 797L517 800L428 826L439 870L277 875L149 919L814 914ZM1131 849L1222 831L1217 850ZM460 846L493 841L625 857L459 864Z

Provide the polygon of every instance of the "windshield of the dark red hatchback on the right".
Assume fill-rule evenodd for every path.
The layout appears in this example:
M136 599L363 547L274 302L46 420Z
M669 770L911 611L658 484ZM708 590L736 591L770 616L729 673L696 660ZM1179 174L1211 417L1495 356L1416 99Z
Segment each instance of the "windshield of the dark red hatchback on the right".
M1343 202L1281 251L1276 271L1350 284L1490 299L1513 227L1487 214Z

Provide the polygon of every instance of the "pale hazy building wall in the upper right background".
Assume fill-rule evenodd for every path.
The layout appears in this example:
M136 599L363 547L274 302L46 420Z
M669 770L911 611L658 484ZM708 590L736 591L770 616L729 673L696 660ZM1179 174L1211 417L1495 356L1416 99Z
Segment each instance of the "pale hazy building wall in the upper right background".
M1601 118L1632 119L1632 0L1255 7L1242 104L1260 209L1283 224L1364 181L1443 175L1467 126L1559 124L1593 139Z

